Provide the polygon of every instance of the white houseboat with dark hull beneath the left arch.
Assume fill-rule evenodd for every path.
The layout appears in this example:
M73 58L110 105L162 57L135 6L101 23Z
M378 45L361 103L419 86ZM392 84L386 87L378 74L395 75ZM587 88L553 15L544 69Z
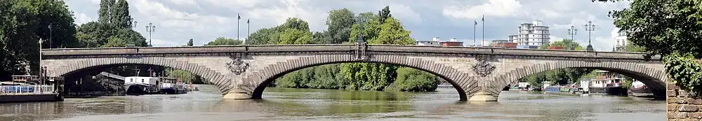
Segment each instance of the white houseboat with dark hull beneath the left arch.
M125 94L140 95L140 94L157 94L161 90L159 78L130 76L124 78Z

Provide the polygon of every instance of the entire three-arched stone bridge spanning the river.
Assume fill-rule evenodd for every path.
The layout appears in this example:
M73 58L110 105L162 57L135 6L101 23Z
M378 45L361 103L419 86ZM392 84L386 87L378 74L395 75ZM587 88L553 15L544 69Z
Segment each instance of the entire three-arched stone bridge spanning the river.
M323 64L372 62L407 66L447 80L460 100L496 101L503 87L552 69L614 71L665 95L661 57L637 52L523 50L418 45L232 45L152 48L46 49L48 76L126 64L190 71L217 85L225 99L260 99L280 76Z

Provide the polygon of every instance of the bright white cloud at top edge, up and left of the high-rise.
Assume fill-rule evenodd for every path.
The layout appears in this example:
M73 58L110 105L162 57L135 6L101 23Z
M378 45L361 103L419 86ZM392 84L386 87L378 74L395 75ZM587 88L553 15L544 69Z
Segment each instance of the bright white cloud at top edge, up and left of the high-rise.
M448 6L442 13L447 17L459 19L479 19L482 15L491 17L510 17L517 15L522 3L516 0L490 0L479 6Z

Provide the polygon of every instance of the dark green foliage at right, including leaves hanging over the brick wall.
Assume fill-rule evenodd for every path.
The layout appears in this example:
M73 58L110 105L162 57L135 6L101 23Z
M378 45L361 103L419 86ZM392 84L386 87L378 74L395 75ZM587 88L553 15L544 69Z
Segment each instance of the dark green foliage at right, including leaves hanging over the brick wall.
M614 17L614 25L621 28L620 31L628 32L629 43L642 47L626 49L662 55L665 70L676 85L689 92L700 92L701 71L693 59L702 57L702 2L635 0L629 6L610 13Z

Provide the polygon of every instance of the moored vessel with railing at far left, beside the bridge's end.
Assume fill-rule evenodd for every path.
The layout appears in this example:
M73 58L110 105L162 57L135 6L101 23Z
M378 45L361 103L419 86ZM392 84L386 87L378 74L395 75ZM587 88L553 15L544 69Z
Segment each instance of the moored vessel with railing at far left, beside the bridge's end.
M0 82L0 103L29 101L63 101L56 80L39 76L12 76L12 81Z

